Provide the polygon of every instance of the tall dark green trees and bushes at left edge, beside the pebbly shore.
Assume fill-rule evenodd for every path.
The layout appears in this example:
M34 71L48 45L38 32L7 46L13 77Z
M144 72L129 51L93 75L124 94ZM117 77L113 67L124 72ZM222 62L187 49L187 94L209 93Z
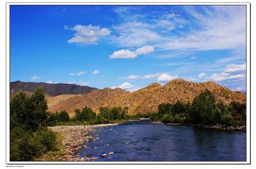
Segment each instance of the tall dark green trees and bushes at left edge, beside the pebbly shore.
M10 100L10 160L28 161L53 150L56 136L43 129L55 125L55 115L46 112L47 102L43 88L37 88L31 97L23 91Z

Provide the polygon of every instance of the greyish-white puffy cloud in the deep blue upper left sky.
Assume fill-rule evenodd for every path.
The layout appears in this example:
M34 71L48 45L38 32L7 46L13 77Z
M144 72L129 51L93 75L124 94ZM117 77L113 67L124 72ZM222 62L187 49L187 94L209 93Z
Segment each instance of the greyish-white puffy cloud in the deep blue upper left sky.
M69 28L67 26L64 26L64 28L76 31L72 39L68 40L68 43L96 44L98 39L110 34L110 30L108 28L92 26L91 24L89 24L88 26L82 26L81 24L77 24L73 28Z

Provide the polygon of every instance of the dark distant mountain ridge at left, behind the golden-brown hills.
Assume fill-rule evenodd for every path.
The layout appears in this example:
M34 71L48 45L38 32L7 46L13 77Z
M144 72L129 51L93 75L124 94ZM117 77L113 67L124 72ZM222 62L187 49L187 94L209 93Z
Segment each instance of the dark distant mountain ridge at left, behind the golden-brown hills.
M28 95L31 95L32 92L38 87L43 87L46 91L46 95L57 96L63 94L85 94L90 91L96 90L97 88L89 86L79 86L76 84L49 84L49 83L35 83L35 82L10 82L10 94L14 95L16 92L23 90Z

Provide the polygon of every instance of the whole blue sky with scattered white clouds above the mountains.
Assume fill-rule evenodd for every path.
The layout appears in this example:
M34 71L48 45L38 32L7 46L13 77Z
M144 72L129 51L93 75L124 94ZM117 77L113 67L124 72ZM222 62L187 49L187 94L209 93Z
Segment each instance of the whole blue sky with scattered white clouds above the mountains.
M10 80L245 90L245 6L11 6Z

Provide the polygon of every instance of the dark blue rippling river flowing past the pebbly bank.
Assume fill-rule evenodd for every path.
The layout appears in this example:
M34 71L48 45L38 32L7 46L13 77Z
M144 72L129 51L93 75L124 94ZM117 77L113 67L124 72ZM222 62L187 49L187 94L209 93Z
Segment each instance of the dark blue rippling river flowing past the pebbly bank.
M245 132L134 121L96 128L79 151L98 161L245 161ZM102 154L114 154L101 158Z

